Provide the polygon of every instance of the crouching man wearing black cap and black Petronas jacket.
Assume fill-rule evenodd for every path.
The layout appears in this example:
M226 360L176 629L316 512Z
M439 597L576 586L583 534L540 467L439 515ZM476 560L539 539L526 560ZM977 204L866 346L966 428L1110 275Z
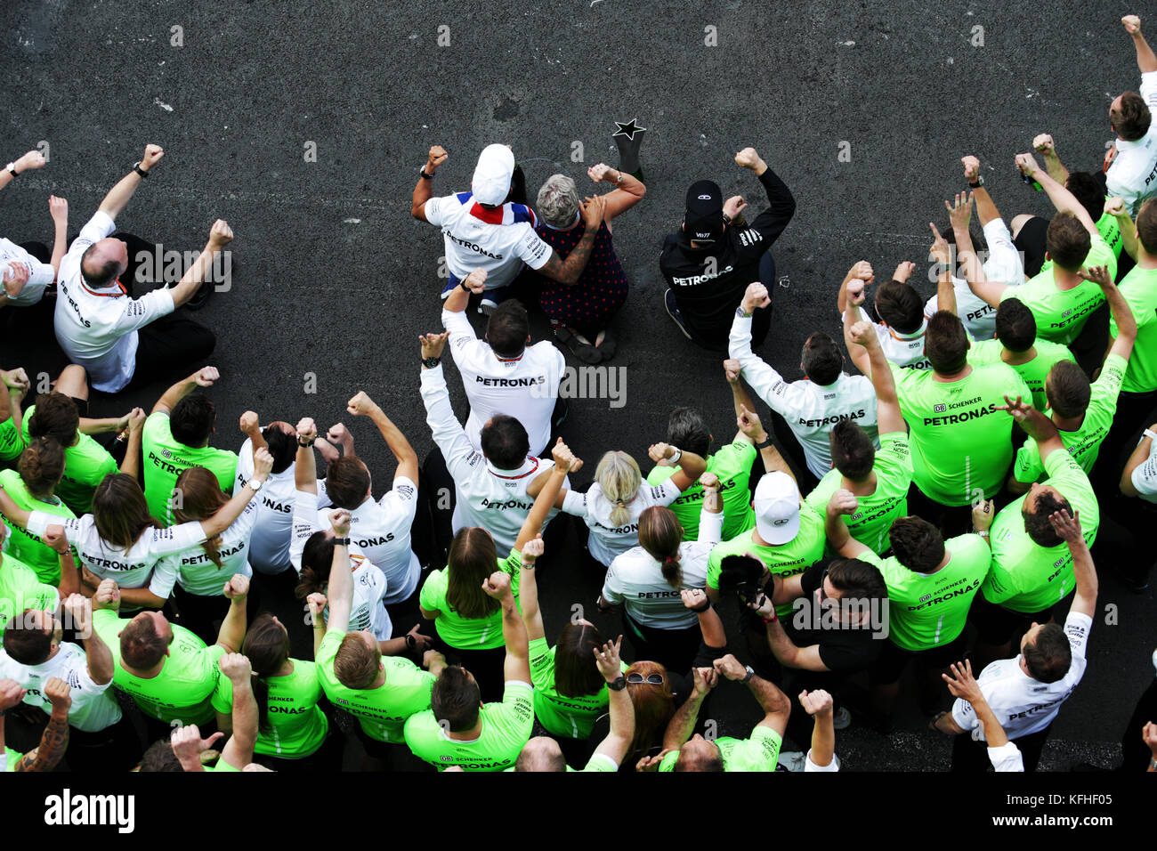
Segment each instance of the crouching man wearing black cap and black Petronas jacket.
M771 206L747 225L739 213L742 196L728 198L713 181L697 181L687 190L687 212L680 233L663 244L658 265L670 287L666 311L686 335L707 349L727 350L728 333L743 293L752 281L772 289L775 261L768 249L795 214L791 190L767 167L754 148L735 155L737 164L756 173ZM752 343L767 336L772 311L758 314Z

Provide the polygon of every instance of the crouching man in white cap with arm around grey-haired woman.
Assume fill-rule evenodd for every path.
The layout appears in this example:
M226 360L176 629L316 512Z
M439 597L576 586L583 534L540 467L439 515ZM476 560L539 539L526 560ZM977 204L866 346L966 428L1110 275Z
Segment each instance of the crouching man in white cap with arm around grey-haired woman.
M508 145L488 145L482 149L469 192L435 198L434 173L448 156L439 145L430 148L426 164L419 170L410 210L415 219L442 228L449 272L443 299L455 287L465 288L466 276L476 269L486 271L486 292L479 307L485 314L507 298L523 264L560 284L578 280L603 221L600 197L588 198L582 205L587 233L563 261L535 233L538 223L535 212L515 200L525 191L519 190L522 171Z

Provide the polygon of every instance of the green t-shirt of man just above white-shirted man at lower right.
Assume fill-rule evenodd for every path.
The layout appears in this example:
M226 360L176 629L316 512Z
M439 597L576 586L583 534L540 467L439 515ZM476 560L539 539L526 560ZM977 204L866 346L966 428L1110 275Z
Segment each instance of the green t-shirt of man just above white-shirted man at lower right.
M1060 491L1079 513L1085 541L1092 546L1100 512L1085 471L1063 449L1049 453L1045 471L1045 484ZM1046 549L1024 530L1020 508L1025 497L1004 506L993 522L993 565L980 590L990 603L1031 615L1063 600L1076 584L1068 544L1062 541Z

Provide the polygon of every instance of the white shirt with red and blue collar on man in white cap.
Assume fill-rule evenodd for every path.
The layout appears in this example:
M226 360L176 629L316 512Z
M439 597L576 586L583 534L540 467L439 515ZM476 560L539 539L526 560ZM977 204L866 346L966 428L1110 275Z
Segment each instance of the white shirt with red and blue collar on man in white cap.
M422 207L426 221L442 228L445 265L458 280L476 269L486 270L486 288L510 284L525 263L541 269L552 249L535 233L538 220L524 204L507 203L486 210L472 192L430 198Z

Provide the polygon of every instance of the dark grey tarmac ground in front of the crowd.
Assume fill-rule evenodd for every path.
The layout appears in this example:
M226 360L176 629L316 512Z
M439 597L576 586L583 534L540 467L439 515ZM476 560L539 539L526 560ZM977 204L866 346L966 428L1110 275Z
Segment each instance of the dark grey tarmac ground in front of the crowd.
M236 232L231 289L197 315L219 337L215 442L239 445L246 408L263 421L344 420L384 483L389 453L367 423L351 423L345 402L367 390L421 455L430 448L417 337L439 329L442 240L408 213L427 148L450 152L440 195L469 188L478 151L494 141L514 146L531 192L555 171L589 189L587 166L618 162L613 122L638 118L648 195L616 221L632 281L611 362L625 371L625 405L576 399L565 433L590 461L609 448L643 457L676 405L701 406L720 439L734 432L720 359L687 343L662 308L658 248L691 181L712 177L760 208L757 182L732 161L752 145L793 189L798 212L774 248L788 286L774 287L761 354L796 379L808 333L838 332L835 289L856 259L877 276L915 261L920 288L933 292L928 222L944 222L943 200L965 186L961 155L981 157L1007 220L1048 210L1014 173L1036 133L1051 132L1070 168L1099 167L1108 102L1138 85L1119 23L1130 10L1069 0L1047 14L911 0L9 0L0 8L3 155L45 140L51 162L0 193L0 233L51 242L50 193L68 199L75 233L145 144L163 145L160 169L118 226L179 251L199 249L219 217ZM705 44L707 28L716 46ZM305 161L309 142L316 162ZM581 163L570 159L575 142ZM536 336L545 330L538 316ZM6 367L54 375L64 366L51 340L12 344L2 343ZM310 373L315 394L305 393ZM460 382L450 383L464 412ZM163 389L95 394L93 410L148 408ZM1154 675L1152 592L1130 595L1101 577L1118 622L1093 630L1089 672L1046 751L1053 769L1112 764ZM575 602L591 617L596 585L565 565L544 578L548 631ZM754 706L738 690L728 703L721 732L744 735ZM943 769L946 743L922 725L911 712L892 740L841 734L847 768Z

